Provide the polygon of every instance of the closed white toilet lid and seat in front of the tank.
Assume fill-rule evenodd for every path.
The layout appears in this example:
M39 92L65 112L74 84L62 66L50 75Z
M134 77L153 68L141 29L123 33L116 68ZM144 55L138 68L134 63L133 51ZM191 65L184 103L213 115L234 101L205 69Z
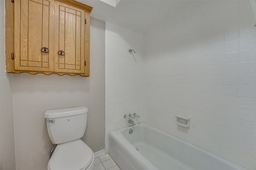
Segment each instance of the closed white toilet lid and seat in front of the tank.
M94 159L92 150L80 139L57 145L48 170L85 170Z

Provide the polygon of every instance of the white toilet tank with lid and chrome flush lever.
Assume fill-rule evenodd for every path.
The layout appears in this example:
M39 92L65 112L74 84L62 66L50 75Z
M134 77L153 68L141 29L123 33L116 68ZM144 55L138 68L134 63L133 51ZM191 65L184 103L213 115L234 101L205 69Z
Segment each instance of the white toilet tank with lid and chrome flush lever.
M86 107L46 111L44 118L46 118L47 130L52 143L65 143L84 136L87 112L88 109ZM53 121L54 123L47 121Z

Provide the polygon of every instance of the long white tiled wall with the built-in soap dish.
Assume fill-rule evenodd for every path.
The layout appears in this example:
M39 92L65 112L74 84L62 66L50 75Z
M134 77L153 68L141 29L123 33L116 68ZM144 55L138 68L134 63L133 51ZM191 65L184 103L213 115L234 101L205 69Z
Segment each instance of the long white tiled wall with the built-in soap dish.
M144 35L144 122L256 169L256 27L246 1L201 1ZM191 117L178 127L174 114Z

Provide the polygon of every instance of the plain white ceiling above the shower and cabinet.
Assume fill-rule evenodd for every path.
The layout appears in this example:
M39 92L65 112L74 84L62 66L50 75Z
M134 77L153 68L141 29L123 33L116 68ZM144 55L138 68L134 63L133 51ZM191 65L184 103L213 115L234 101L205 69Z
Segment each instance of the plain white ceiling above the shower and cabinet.
M193 0L121 0L113 7L100 0L77 1L93 7L92 17L110 21L142 34L174 15L177 10L195 3Z

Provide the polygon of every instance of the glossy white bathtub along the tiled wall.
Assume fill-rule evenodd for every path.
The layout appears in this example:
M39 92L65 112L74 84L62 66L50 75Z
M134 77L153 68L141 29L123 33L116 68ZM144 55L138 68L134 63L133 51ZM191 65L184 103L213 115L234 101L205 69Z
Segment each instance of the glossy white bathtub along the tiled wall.
M245 170L146 123L110 132L109 154L122 170Z

